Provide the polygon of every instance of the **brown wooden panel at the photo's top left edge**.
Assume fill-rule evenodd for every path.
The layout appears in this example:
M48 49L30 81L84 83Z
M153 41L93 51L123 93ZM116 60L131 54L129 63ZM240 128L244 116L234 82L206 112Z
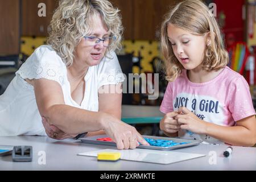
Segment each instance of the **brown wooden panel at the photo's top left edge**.
M0 1L0 56L19 53L19 1Z

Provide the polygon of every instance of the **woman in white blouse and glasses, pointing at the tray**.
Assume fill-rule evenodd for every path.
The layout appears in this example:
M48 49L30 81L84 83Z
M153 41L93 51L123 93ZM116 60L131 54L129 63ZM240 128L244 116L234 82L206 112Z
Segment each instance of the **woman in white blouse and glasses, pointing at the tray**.
M118 149L148 144L120 121L118 11L107 0L60 1L48 45L35 50L0 97L0 135L63 139L105 132Z

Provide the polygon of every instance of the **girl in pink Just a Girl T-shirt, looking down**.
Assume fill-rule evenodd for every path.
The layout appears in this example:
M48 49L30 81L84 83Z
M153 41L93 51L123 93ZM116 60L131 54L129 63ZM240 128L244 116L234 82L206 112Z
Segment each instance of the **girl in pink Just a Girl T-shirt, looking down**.
M169 84L160 129L169 137L253 146L255 110L245 78L232 71L220 28L201 1L183 1L162 24Z

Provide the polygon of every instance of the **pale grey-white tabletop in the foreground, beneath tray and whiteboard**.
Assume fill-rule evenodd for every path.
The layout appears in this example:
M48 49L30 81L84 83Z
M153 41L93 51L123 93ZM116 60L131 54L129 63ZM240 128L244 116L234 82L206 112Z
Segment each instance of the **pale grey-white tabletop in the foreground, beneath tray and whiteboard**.
M82 144L79 140L73 139L54 140L48 137L36 136L0 137L0 144L33 147L32 162L13 162L11 155L3 156L0 157L0 170L256 170L255 147L233 147L231 158L224 158L222 153L227 146L200 144L199 146L174 151L204 154L205 157L163 165L126 160L119 160L114 163L98 162L97 158L77 154L105 148L115 149L115 147ZM39 164L38 160L42 158L43 153L46 154L46 164ZM214 155L216 155L216 160L213 159ZM216 161L216 164L214 164L214 161Z

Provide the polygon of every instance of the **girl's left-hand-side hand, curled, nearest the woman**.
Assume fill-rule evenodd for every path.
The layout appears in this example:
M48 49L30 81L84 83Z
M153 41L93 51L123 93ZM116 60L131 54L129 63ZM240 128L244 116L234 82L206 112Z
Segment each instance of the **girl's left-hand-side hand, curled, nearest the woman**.
M166 133L176 133L179 131L180 123L178 123L177 119L175 119L178 114L178 112L174 111L164 115L164 118L160 121L160 129Z

